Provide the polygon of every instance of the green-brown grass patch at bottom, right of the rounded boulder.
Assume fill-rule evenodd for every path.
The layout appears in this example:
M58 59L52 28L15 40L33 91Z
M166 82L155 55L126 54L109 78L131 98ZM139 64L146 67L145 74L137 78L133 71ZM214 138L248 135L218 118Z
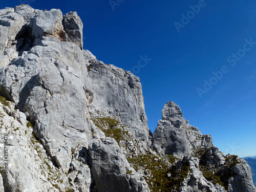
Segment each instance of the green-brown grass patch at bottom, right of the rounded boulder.
M172 186L172 180L167 177L167 174L171 174L171 166L166 165L165 158L160 158L155 155L146 154L139 155L135 158L128 157L127 161L137 171L139 167L144 167L148 172L151 173L150 177L145 177L145 180L150 187L151 191L170 191ZM175 162L173 156L167 157L168 161ZM153 185L152 185L153 183Z

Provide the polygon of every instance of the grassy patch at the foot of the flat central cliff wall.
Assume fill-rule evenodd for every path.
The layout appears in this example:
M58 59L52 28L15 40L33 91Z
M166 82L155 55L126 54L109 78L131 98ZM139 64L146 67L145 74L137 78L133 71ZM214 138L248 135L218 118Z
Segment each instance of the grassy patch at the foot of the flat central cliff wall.
M124 135L128 134L128 131L117 127L120 122L116 119L111 119L109 117L97 117L93 118L92 121L105 134L106 137L115 139L118 144L121 140L125 139Z

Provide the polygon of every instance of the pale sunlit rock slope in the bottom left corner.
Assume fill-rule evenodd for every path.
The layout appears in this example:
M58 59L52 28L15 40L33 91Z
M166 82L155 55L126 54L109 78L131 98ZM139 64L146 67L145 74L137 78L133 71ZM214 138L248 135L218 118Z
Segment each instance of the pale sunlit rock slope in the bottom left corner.
M14 103L3 101L1 97L0 124L3 137L0 139L0 150L7 150L7 156L0 154L0 191L39 192L42 188L56 191L47 180L49 174L55 172L51 169L53 165L42 145L33 136L32 127L27 126L25 114L15 110Z

